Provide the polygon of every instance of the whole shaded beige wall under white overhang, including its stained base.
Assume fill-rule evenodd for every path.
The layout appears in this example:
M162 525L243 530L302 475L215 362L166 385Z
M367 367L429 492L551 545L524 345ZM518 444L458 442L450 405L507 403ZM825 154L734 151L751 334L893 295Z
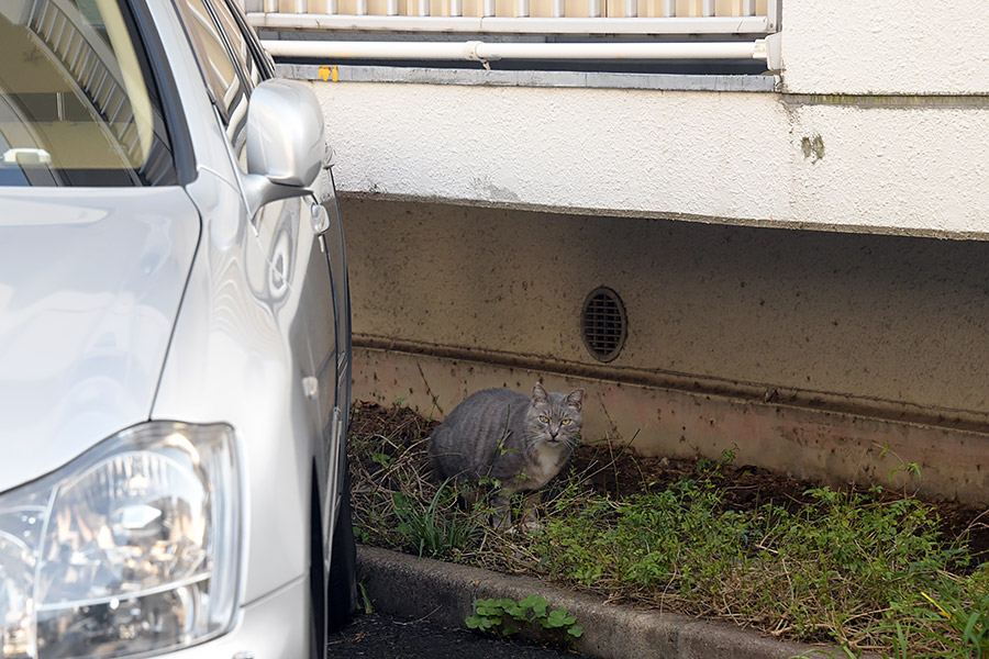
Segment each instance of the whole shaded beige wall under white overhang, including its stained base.
M589 437L647 454L738 444L804 478L887 484L914 461L933 493L989 488L989 244L371 199L343 213L359 398L442 417L544 377L588 388ZM607 366L578 321L598 286L629 314Z

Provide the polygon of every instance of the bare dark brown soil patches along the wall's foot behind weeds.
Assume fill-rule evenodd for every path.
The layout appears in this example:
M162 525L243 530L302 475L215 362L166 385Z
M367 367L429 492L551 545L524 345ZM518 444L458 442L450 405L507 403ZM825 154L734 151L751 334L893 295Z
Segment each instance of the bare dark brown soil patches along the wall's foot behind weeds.
M381 434L392 437L399 445L409 445L426 436L435 425L438 424L408 407L382 407L377 403L358 402L351 432L359 435ZM680 479L702 474L699 458L645 457L607 442L581 444L570 461L578 471L591 474L590 482L598 493L608 493L612 498L663 490ZM770 501L790 509L798 507L810 501L804 492L820 485L743 462L744 455L740 455L737 463L720 466L724 476L720 484L726 490L725 503L735 510L755 509ZM902 493L888 492L888 496L898 498ZM989 515L985 507L964 505L957 501L922 501L936 509L945 539L955 538L967 529L969 552L977 559L974 562L989 560Z

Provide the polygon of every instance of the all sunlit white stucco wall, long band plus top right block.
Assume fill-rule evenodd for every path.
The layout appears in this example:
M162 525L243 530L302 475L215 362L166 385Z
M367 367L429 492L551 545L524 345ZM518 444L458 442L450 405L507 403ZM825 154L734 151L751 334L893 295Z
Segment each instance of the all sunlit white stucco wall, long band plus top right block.
M902 0L786 0L782 21L779 93L315 82L338 185L564 212L989 235L989 21L965 3Z

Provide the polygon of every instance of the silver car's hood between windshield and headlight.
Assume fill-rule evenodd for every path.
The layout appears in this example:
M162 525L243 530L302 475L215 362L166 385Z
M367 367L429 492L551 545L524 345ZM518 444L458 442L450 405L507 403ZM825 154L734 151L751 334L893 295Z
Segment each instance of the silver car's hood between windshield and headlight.
M148 417L199 234L182 188L0 189L0 492Z

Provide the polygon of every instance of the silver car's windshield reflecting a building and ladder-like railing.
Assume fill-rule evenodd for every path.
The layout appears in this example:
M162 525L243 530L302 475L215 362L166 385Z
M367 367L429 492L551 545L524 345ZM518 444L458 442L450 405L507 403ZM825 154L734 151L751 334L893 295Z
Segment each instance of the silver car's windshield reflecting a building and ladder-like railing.
M0 186L176 180L127 8L118 0L0 1Z

